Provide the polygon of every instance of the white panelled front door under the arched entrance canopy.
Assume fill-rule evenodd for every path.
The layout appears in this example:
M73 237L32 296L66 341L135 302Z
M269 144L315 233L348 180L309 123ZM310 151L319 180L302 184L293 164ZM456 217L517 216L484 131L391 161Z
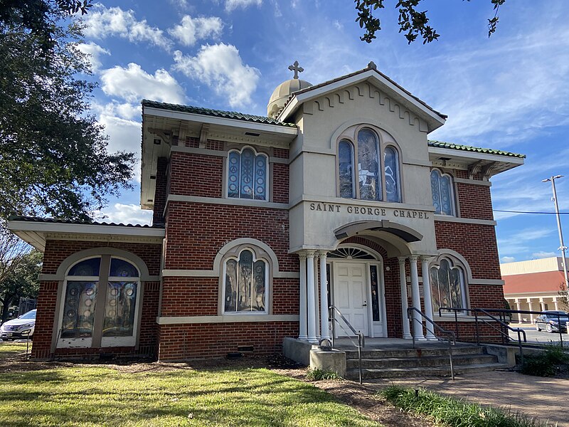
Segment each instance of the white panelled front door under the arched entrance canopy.
M368 336L368 275L366 264L336 263L334 270L334 305L339 308L353 329ZM341 319L338 320L345 331L336 324L336 337L353 335L349 327Z

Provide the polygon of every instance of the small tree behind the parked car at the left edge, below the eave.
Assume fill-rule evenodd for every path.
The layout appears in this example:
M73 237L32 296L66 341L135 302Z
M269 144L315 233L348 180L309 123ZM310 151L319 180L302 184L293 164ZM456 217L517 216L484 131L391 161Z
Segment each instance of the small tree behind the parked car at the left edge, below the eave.
M38 295L42 254L0 226L0 304L2 322L20 297Z

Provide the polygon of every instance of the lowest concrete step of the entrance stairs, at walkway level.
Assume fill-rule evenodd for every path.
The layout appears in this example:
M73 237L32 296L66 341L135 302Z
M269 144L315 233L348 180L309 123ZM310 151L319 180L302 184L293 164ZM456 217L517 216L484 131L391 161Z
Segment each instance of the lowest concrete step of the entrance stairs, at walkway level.
M455 366L454 375L469 374L472 372L494 371L495 369L508 368L506 364L473 364L467 366ZM414 368L390 368L390 369L362 369L363 379L373 378L398 378L398 377L423 377L423 376L450 376L450 367L414 367ZM348 369L347 379L358 379L358 369Z

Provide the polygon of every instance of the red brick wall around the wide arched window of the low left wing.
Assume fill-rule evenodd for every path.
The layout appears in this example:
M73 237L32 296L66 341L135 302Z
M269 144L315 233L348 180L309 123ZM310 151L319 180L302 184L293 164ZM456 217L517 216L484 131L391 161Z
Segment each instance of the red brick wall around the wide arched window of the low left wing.
M122 249L138 255L149 268L150 275L159 275L161 245L149 243L104 243L81 241L47 241L46 251L43 255L44 274L55 274L60 263L69 255L89 248L107 247ZM55 319L55 304L57 299L58 282L41 282L38 293L38 314L36 317L36 330L34 331L32 357L47 359L51 354L51 339ZM142 300L142 321L140 325L139 350L134 347L113 347L110 349L57 349L55 356L72 357L75 355L99 354L110 352L113 354L156 354L156 316L158 315L159 283L148 282L144 284Z

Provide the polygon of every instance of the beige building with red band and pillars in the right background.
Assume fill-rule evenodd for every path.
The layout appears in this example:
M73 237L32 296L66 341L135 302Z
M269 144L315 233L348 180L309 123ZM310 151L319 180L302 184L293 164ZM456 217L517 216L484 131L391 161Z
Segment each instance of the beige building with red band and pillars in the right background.
M505 263L500 270L504 297L512 310L567 310L560 294L565 285L563 258ZM520 315L519 321L533 323L536 316Z

